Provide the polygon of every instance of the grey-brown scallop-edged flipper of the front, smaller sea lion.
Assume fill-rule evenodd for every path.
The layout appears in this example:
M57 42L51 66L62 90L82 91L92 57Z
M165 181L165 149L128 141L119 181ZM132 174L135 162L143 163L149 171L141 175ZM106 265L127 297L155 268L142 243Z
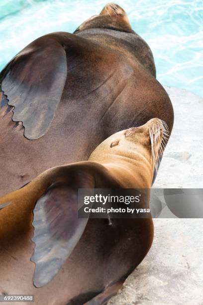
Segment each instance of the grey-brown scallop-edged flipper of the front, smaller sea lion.
M42 287L58 273L78 243L88 218L78 218L77 189L55 183L40 197L34 208L36 264L33 283Z

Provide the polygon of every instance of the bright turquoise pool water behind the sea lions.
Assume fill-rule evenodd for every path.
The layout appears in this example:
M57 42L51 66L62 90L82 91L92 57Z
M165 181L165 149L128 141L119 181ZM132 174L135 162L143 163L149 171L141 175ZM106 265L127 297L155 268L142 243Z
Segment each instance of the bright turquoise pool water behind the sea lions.
M106 0L0 0L0 70L35 38L73 32ZM203 96L203 1L118 0L150 45L163 85Z

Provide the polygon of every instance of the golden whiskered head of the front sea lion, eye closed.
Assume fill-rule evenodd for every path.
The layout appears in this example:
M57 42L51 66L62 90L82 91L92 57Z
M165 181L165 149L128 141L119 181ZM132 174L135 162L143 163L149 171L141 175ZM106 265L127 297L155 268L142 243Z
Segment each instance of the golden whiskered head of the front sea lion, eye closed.
M89 160L105 161L112 155L136 158L141 154L150 160L152 170L158 170L159 156L162 155L168 138L166 123L158 118L149 120L146 124L120 131L104 140Z

